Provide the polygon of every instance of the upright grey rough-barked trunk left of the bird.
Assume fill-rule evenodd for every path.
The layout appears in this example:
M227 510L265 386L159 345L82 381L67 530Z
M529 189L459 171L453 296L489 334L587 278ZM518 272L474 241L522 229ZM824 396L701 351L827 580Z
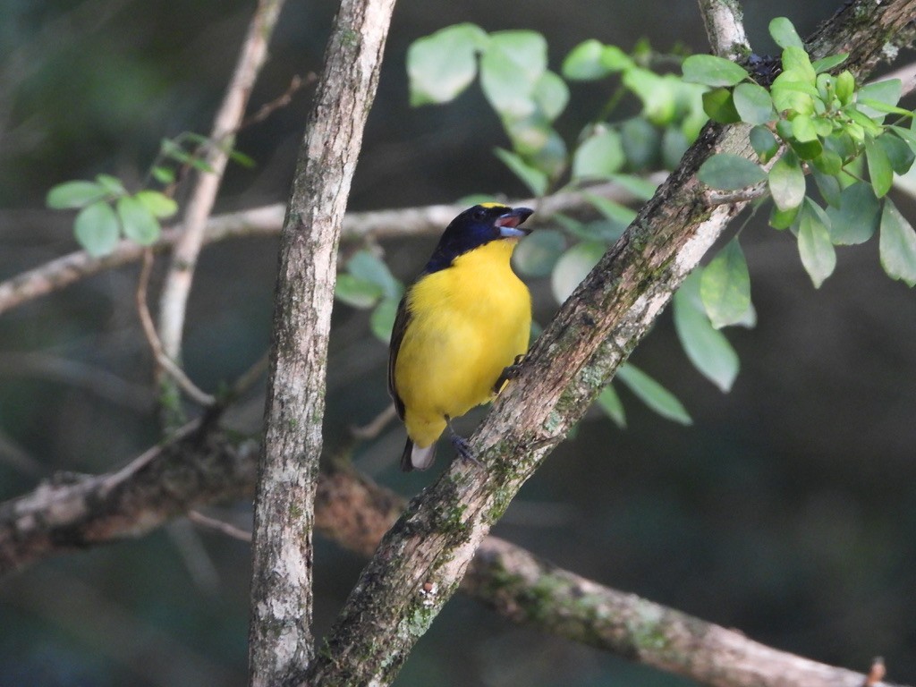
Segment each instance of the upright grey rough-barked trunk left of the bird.
M394 0L343 0L280 239L252 548L250 683L309 664L311 529L337 245Z

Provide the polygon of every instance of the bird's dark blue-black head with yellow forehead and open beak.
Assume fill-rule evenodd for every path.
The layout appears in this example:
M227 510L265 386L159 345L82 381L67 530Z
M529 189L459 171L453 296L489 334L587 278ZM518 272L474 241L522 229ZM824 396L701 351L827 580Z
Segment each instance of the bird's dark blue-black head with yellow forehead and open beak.
M456 257L491 241L527 236L531 230L519 225L533 213L528 208L510 208L496 202L485 202L468 208L445 229L439 245L423 270L424 274L450 267Z

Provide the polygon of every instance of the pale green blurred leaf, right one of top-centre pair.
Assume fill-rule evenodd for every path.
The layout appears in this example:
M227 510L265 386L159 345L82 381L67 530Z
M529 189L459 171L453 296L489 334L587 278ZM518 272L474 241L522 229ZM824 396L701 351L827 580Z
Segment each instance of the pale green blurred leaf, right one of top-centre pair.
M524 117L537 109L534 93L547 71L547 41L536 31L496 31L480 60L480 85L499 114Z

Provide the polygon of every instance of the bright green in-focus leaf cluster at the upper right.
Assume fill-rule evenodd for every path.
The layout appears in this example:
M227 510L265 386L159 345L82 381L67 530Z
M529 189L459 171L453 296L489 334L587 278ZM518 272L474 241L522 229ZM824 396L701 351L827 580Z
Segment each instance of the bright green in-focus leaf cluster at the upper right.
M833 73L846 55L812 61L789 19L773 19L769 31L782 48L782 71L769 89L730 60L684 60L684 79L712 89L703 94L706 114L750 125L757 155L756 162L714 155L700 180L721 191L766 184L769 224L797 237L815 287L834 271L834 246L864 243L878 230L882 267L916 285L916 233L886 197L894 175L909 171L916 158L916 120L898 106L900 80L858 86L850 71Z

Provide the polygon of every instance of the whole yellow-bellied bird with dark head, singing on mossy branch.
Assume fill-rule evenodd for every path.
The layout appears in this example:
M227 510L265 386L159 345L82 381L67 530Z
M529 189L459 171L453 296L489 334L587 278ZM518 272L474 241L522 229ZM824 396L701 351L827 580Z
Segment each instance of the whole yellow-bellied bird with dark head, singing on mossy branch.
M528 350L531 295L509 258L533 211L474 205L445 229L420 277L398 305L388 356L388 392L408 440L401 469L425 470L449 420L492 400Z

